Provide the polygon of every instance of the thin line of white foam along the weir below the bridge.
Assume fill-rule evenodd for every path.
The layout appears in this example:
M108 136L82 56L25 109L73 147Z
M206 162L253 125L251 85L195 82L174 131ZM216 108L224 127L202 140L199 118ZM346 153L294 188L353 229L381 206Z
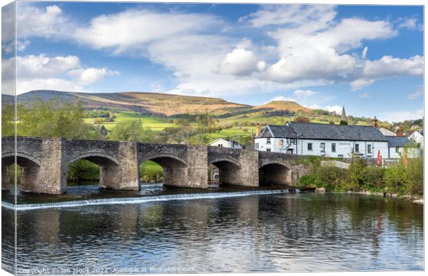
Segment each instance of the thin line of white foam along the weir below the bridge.
M157 195L148 197L122 197L122 198L109 198L109 199L87 199L75 201L63 201L52 203L40 204L11 204L9 202L1 201L1 206L11 210L35 210L47 208L66 208L75 206L88 206L88 205L111 205L111 204L139 204L150 201L166 201L166 200L179 200L179 199L213 199L223 197L244 197L247 195L271 195L290 193L289 189L280 190L249 190L245 192L231 192L231 193L193 193L193 194L180 194L180 195Z

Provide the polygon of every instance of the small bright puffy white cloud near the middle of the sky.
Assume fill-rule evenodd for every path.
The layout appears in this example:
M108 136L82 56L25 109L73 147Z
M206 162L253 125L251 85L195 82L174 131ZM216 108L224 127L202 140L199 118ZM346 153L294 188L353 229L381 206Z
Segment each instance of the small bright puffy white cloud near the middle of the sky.
M251 75L251 73L263 70L265 67L266 63L258 61L251 50L235 48L220 61L218 70L222 74L242 76Z

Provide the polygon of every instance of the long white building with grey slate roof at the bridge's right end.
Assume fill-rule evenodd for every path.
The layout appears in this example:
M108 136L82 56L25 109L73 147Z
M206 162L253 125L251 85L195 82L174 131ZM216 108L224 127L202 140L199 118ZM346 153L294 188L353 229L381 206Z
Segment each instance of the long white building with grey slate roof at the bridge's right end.
M373 126L347 126L289 122L267 125L255 139L255 149L293 155L388 158L388 140Z

